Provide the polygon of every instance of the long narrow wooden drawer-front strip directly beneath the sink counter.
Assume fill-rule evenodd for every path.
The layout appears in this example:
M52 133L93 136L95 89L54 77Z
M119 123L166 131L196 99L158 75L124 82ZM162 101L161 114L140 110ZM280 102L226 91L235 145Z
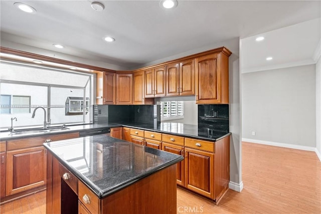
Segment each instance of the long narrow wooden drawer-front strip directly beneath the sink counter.
M66 140L66 139L77 138L77 137L79 137L79 132L10 140L8 141L7 150L42 146L42 144L47 140L56 141L56 140Z

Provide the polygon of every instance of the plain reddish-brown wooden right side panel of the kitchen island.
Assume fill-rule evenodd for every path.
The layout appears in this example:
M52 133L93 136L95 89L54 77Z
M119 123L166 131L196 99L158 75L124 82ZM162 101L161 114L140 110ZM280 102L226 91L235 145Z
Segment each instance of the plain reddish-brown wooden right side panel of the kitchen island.
M177 213L176 186L172 165L105 197L101 213Z

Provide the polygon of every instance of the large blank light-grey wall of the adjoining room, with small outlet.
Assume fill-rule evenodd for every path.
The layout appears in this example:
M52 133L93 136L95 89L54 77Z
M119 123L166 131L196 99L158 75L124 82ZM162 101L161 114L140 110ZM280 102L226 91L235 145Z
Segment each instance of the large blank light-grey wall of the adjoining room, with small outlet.
M315 65L242 74L241 91L245 141L315 148Z

